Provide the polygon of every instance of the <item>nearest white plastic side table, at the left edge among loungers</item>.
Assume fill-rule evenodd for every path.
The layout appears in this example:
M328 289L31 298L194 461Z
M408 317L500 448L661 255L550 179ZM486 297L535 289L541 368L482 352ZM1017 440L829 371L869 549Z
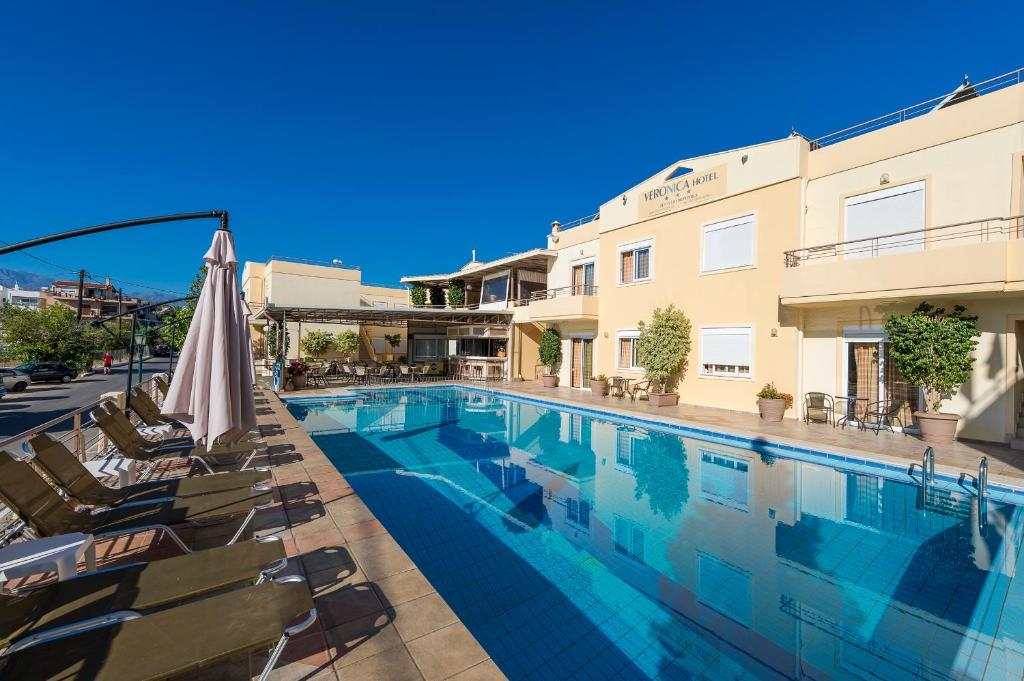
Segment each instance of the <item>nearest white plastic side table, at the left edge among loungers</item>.
M41 572L56 572L63 582L78 574L78 561L85 557L85 569L96 569L96 545L92 535L72 533L8 544L0 549L0 581Z

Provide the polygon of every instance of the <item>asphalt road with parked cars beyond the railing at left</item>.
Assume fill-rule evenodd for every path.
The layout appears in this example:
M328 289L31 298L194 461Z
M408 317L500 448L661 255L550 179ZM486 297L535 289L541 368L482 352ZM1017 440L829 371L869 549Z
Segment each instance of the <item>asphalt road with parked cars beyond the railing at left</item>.
M175 357L176 359L176 357ZM138 371L138 366L135 366ZM71 383L33 383L24 392L8 392L0 398L0 439L16 435L29 428L90 405L104 392L124 390L128 377L127 366L114 367L109 376L102 371L80 376ZM142 377L167 371L167 359L151 357L142 365ZM71 420L68 428L71 428Z

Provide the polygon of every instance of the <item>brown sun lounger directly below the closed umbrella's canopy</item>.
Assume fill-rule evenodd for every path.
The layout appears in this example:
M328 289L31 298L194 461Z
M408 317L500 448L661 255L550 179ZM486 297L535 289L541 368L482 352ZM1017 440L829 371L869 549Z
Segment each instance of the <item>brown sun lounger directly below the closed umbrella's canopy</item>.
M246 470L256 453L266 449L262 441L242 441L231 446L214 445L211 452L207 452L205 446L196 446L191 438L150 440L139 434L125 415L110 402L101 403L91 416L100 430L128 459L153 461L169 457L194 458L212 473L213 465L236 465L239 462L242 462L239 470Z

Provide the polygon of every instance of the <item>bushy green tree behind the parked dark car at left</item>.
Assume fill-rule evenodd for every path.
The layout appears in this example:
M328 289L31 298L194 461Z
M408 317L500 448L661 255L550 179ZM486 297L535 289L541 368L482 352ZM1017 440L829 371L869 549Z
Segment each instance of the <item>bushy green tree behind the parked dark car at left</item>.
M75 310L61 304L39 309L0 307L0 344L5 354L22 361L56 361L88 369L104 345L102 331L80 323Z

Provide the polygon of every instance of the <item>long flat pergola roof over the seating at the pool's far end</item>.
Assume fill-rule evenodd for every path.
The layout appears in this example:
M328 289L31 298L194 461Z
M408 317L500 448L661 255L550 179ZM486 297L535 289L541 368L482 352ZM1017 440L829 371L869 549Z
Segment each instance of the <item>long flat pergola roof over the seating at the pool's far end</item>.
M380 327L398 327L406 324L509 324L510 309L449 309L438 307L295 307L267 305L254 320L282 323L309 322L313 324L372 324Z

